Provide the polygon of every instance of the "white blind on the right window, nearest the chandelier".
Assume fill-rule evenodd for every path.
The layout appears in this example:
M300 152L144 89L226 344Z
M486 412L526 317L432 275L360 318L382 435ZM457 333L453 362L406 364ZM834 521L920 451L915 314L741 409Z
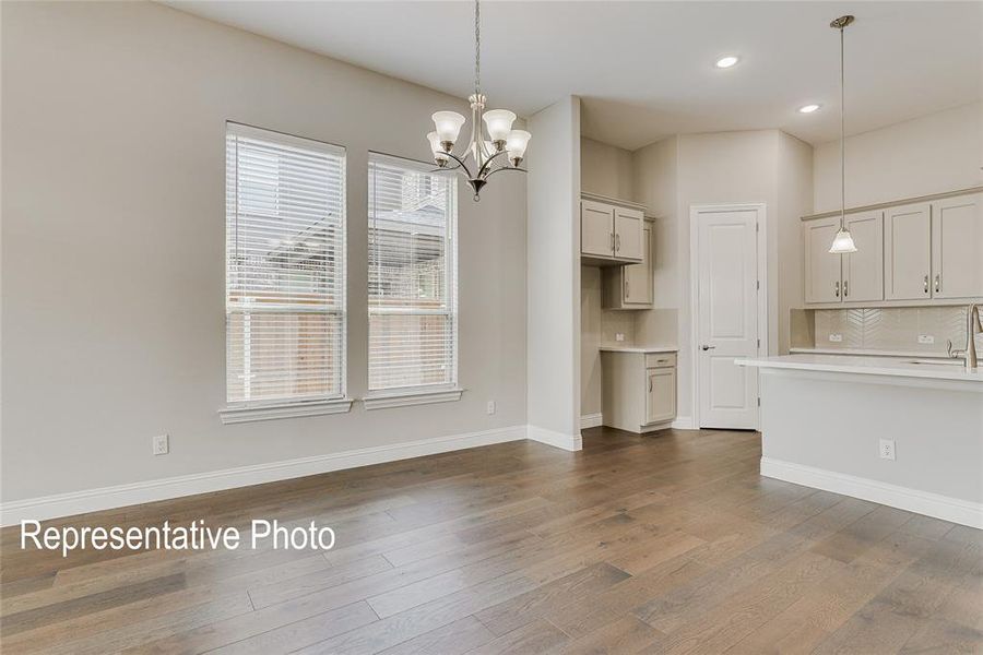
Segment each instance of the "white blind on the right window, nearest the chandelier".
M457 383L454 179L369 155L369 390Z

